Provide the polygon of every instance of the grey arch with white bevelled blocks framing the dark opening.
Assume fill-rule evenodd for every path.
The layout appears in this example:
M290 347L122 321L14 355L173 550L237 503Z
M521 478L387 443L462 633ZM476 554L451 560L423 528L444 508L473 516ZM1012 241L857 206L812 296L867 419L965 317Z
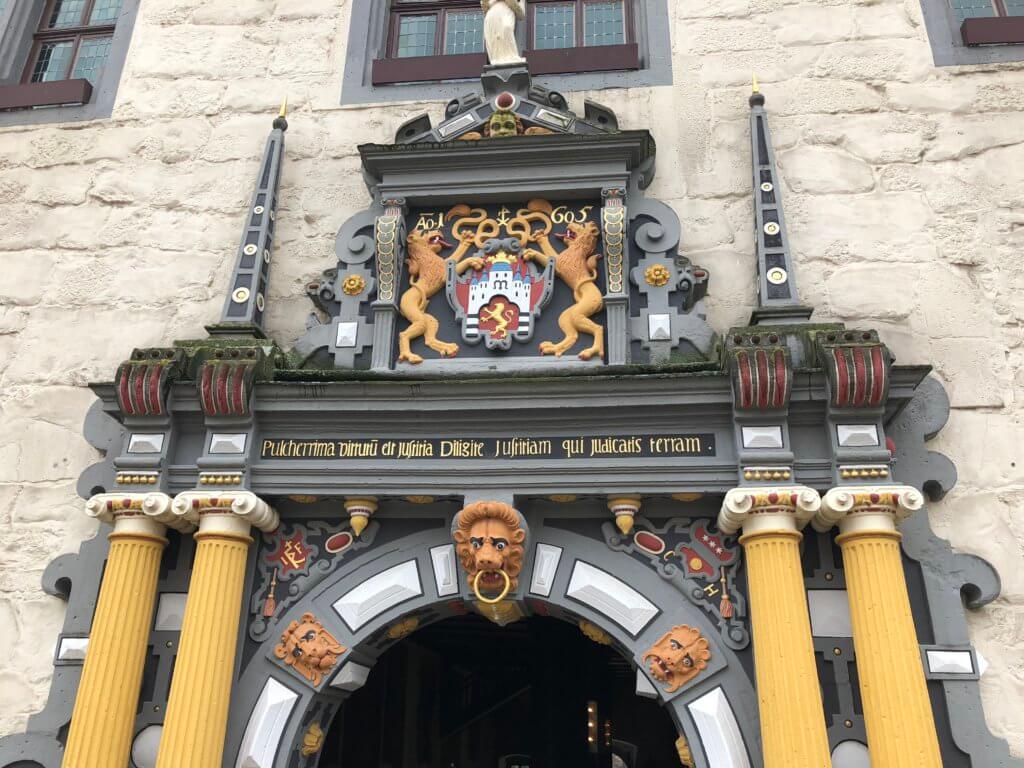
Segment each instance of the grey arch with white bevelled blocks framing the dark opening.
M667 766L679 765L671 746L681 734L689 743L696 768L760 768L757 698L750 675L726 642L728 638L693 602L692 591L678 569L655 569L645 558L628 556L613 537L596 539L579 532L593 527L587 518L547 518L536 509L529 511L534 513L530 538L515 601L524 617L504 629L496 626L493 631L516 633L520 622L525 629L535 626L531 622L540 626L544 623L540 620L545 620L560 628L553 631L567 633L569 642L558 644L566 645L571 656L573 648L593 650L588 645L591 641L579 630L581 621L589 622L611 639L612 646L600 651L610 654L605 658L617 655L632 671L633 696L629 700L638 712L653 706L663 719L674 724L675 732L667 741L671 758ZM690 522L680 519L672 525ZM613 523L607 525L613 527ZM429 516L388 520L386 527L373 521L362 539L365 547L353 546L350 558L342 558L329 570L310 572L298 599L286 602L278 625L288 627L307 613L315 616L345 648L339 663L330 676L311 682L276 655L279 632L267 632L265 639L252 645L243 658L231 702L226 746L231 757L225 766L339 765L340 757L328 762L325 751L336 715L348 701L357 700L360 689L378 684L375 678L388 679L389 675L379 673L391 651L401 653L398 647L435 625L468 627L462 623L470 617L486 622L477 615L472 593L458 567L450 516L441 524ZM407 636L402 628L410 623L418 629ZM680 625L699 630L710 643L712 657L708 669L690 685L668 690L646 673L643 658L666 633ZM489 626L486 629L492 631ZM445 631L455 630L437 630ZM498 647L497 642L492 646ZM453 635L453 644L465 648L468 640ZM527 644L506 655L540 664L536 658L539 653ZM564 670L558 671L559 690L569 687L568 671L573 664L564 662ZM644 697L649 703L642 700ZM375 710L374 715L381 717L381 712ZM612 737L618 738L614 731ZM401 733L393 734L394 741L401 739ZM345 768L350 765L377 768L401 763L355 760L347 761Z

